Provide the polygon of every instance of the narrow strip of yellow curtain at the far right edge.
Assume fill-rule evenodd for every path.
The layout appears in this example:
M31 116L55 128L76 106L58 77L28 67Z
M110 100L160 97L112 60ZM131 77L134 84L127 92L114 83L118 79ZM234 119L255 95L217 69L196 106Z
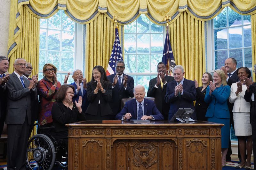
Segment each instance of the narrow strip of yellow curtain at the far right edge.
M256 64L256 14L251 15L251 29L252 29L252 69ZM256 80L255 74L252 74L253 81Z

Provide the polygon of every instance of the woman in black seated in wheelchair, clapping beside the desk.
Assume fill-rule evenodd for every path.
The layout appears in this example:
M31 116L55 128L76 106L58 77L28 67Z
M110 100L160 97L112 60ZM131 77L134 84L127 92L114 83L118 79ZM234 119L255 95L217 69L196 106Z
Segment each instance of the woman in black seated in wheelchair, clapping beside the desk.
M27 166L33 169L52 169L54 165L67 169L68 128L67 123L85 120L82 112L82 97L73 103L75 88L61 85L56 94L57 102L52 106L53 127L48 127L49 134L36 134L28 141ZM40 127L38 127L40 128Z

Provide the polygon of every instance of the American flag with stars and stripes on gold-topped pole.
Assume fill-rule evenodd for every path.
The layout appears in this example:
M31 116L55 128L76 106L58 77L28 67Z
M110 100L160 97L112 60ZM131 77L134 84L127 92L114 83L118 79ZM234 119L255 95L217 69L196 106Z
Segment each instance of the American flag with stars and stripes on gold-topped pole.
M114 45L112 48L112 53L109 58L108 69L106 71L107 76L116 73L116 62L119 60L124 61L123 55L122 55L122 50L121 50L121 45L120 45L120 40L119 40L119 36L118 36L118 29L116 28L116 38L115 38Z

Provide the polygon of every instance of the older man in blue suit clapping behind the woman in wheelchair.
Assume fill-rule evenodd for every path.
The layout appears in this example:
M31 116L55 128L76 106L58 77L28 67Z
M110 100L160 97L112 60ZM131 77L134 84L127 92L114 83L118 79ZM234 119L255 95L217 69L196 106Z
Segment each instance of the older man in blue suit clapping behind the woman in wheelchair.
M89 102L87 101L87 94L86 94L87 80L86 80L86 78L83 78L83 72L78 69L73 71L72 78L74 79L74 82L71 83L70 85L73 85L75 87L73 102L75 102L75 101L78 102L79 97L82 96L82 99L83 99L82 111L85 113L85 111L89 105ZM68 79L67 79L67 81L68 81Z

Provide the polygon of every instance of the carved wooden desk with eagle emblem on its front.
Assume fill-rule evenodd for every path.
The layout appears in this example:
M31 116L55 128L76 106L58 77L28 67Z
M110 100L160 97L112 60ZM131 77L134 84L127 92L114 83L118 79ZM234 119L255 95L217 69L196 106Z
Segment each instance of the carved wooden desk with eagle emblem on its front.
M68 169L221 169L223 124L83 121L67 125Z

